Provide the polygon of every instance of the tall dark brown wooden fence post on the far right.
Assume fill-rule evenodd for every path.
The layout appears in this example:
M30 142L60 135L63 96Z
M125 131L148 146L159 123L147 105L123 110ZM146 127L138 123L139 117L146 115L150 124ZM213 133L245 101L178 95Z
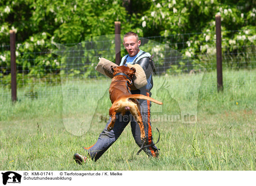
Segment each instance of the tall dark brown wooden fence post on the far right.
M223 91L222 52L221 52L221 15L215 15L216 24L216 58L217 58L217 89Z

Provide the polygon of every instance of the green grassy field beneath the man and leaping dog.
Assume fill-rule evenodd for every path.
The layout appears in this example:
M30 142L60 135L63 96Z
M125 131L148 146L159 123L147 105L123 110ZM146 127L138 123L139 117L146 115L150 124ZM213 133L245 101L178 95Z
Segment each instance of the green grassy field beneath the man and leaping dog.
M201 75L154 78L152 97L164 100L162 113L152 104L155 114L180 115L181 105L191 107L196 96L187 82L201 82L196 124L152 122L154 139L156 128L161 135L159 159L136 155L139 147L128 125L96 163L73 161L73 154L84 154L82 147L93 145L106 124L96 113L108 113L109 80L33 87L50 93L37 99L22 96L29 89L24 87L15 104L2 96L0 170L256 170L256 70L224 71L222 93L217 93L216 72L206 72L202 80ZM159 92L164 79L170 86ZM6 91L0 88L0 96Z

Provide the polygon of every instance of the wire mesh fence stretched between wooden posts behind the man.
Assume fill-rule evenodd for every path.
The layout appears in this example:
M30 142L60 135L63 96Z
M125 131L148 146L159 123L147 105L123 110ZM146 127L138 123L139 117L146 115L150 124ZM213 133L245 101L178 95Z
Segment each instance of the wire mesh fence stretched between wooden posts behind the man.
M188 33L140 38L140 49L154 54L157 75L198 73L216 69L215 32ZM256 35L252 30L222 32L223 69L256 67ZM122 45L122 44L121 44ZM127 54L122 47L121 56ZM114 35L90 38L79 44L16 45L18 98L51 96L61 82L95 79L107 80L95 67L99 57L115 61ZM10 46L0 46L0 94L10 97Z

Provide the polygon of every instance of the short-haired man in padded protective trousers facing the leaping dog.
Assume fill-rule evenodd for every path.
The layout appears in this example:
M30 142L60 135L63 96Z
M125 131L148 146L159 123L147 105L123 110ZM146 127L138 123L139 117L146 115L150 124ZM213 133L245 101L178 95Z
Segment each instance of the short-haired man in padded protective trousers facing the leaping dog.
M125 46L125 49L127 50L128 55L125 55L122 58L120 66L121 65L127 66L127 64L135 64L135 63L140 64L140 61L143 61L142 59L144 59L145 57L149 58L151 56L149 53L144 52L139 48L140 44L141 44L141 41L139 40L138 35L136 33L128 32L124 35L123 45ZM143 64L145 64L145 60L140 65L142 66ZM148 76L149 77L147 77L147 84L144 87L141 87L140 89L131 90L132 94L143 94L145 96L151 96L150 90L153 87L151 72L150 74L148 74ZM145 128L146 144L147 145L154 144L153 138L152 138L151 122L150 122L151 102L140 99L139 105L140 105L140 113L143 117L143 124ZM126 119L123 119L125 117ZM90 157L94 161L98 160L99 157L101 157L102 154L105 151L107 151L108 148L116 141L116 139L118 139L118 137L121 135L122 131L128 125L130 120L131 120L131 131L135 139L135 142L139 147L143 145L142 144L143 142L140 139L140 127L135 121L135 119L133 118L133 116L131 116L131 113L126 112L124 116L122 116L120 113L117 113L116 118L119 118L119 119L116 119L115 125L111 131L108 131L107 129L108 124L111 122L111 118L110 118L104 130L99 135L97 142L88 148L84 148L88 153L88 157ZM159 154L158 149L155 145L152 145L147 148L144 147L143 151L146 154L148 154L148 156L151 156L151 157L158 157L158 154ZM74 160L76 160L77 163L81 164L86 162L87 157L84 157L76 153L74 154Z

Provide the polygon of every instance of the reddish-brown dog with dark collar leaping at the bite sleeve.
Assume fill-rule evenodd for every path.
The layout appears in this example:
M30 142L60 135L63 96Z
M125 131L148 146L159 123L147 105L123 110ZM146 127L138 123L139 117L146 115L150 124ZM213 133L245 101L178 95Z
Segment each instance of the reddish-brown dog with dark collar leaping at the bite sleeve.
M130 69L125 66L111 66L111 70L113 71L113 78L110 84L109 94L112 106L109 109L109 116L112 117L112 120L108 125L108 131L111 131L114 127L116 113L121 112L122 115L125 115L126 111L130 111L140 126L140 138L144 141L144 125L139 110L139 103L136 99L146 99L159 105L162 105L163 103L142 94L131 94L131 78L136 72L134 67Z

